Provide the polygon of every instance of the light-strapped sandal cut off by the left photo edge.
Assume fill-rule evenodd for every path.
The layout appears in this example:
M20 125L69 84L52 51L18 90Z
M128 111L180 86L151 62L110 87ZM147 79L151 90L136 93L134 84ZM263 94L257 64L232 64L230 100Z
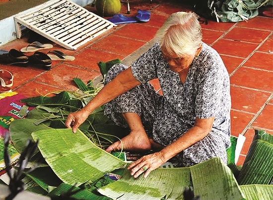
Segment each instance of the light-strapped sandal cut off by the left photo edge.
M11 92L13 85L13 73L8 70L0 69L0 93Z

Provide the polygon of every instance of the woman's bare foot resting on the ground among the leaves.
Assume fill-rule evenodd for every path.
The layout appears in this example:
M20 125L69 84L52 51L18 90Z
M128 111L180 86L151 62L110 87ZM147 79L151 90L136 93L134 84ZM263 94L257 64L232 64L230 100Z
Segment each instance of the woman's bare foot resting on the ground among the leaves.
M106 151L119 151L122 148L123 150L128 151L147 151L151 149L151 143L144 130L133 131L129 135L123 137L121 141L119 140L113 143Z

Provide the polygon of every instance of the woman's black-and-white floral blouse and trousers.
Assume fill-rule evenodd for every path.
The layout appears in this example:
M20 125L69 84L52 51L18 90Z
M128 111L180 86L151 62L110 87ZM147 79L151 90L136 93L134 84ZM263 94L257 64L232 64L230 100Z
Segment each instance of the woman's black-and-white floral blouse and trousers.
M125 67L112 67L106 83ZM156 43L132 64L132 73L142 84L106 104L105 114L126 126L120 115L137 113L154 141L167 146L194 126L196 118L215 117L211 132L177 156L179 166L191 166L212 157L227 161L230 145L230 83L228 72L218 55L203 43L202 51L190 66L186 81L170 70ZM148 83L158 78L163 96Z

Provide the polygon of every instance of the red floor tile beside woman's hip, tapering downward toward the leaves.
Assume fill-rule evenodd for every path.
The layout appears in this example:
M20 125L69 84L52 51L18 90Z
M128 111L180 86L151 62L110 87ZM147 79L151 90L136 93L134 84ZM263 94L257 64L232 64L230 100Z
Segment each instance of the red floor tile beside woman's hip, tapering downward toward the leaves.
M238 137L254 118L254 114L244 113L241 111L231 110L231 135Z

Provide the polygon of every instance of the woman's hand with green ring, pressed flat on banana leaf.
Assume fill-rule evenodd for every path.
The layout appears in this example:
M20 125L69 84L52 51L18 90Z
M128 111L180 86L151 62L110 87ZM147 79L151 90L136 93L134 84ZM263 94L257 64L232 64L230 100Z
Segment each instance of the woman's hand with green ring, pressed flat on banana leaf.
M135 178L145 172L144 178L146 178L151 171L157 169L165 162L164 157L159 151L139 158L135 162L132 162L127 169L131 170L131 175Z

